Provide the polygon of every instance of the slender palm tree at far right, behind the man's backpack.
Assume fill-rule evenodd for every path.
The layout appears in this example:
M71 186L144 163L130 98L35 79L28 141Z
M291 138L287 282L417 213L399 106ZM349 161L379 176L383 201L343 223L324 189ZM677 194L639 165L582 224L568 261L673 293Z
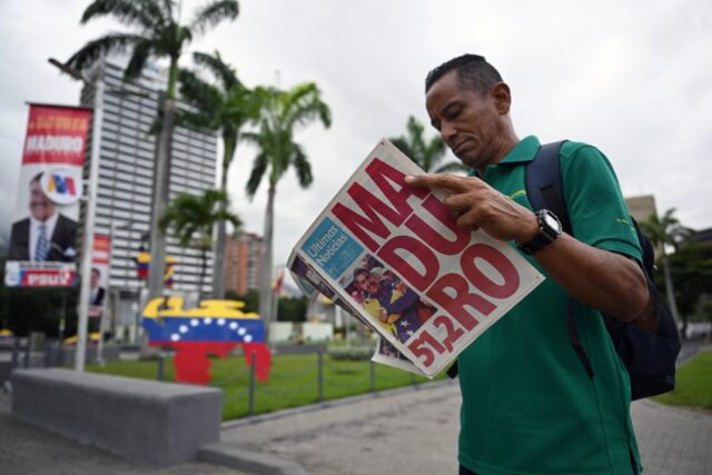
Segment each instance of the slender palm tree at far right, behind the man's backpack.
M665 279L665 294L668 296L668 303L670 304L670 310L675 321L680 323L680 311L678 310L678 304L675 301L675 289L672 281L672 275L670 273L670 259L666 251L666 246L672 246L676 251L682 243L686 240L691 231L680 224L678 218L673 215L675 208L671 208L660 217L656 212L650 215L646 220L640 222L641 228L651 240L656 251L660 251L660 260L663 265L663 277ZM683 337L684 326L686 325L686 318L683 318Z

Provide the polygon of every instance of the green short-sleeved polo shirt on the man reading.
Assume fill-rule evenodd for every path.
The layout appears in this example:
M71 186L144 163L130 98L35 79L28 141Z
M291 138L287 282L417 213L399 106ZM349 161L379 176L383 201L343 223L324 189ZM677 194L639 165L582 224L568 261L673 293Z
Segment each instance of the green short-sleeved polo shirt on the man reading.
M483 179L530 209L524 165L540 147L527 137ZM576 239L641 259L615 174L594 147L561 148L564 196ZM543 269L536 260L528 261ZM545 274L545 273L544 273ZM568 296L547 278L458 358L463 394L459 463L487 474L630 474L640 461L630 380L597 310L576 304L589 378L566 333ZM640 463L637 463L640 466Z

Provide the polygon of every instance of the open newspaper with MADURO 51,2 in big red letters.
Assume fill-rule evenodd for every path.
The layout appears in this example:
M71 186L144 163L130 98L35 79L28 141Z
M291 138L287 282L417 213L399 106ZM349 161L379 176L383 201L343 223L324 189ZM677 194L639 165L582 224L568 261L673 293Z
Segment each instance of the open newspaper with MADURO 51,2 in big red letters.
M288 267L378 336L374 360L434 377L542 276L508 244L459 229L444 190L383 139L297 241Z

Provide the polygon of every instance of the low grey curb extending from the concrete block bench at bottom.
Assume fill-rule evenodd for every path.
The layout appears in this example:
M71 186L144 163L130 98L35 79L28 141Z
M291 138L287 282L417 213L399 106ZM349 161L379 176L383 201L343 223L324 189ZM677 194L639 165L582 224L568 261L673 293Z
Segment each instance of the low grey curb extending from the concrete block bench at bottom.
M257 475L307 475L296 462L221 444L210 444L200 448L198 459Z

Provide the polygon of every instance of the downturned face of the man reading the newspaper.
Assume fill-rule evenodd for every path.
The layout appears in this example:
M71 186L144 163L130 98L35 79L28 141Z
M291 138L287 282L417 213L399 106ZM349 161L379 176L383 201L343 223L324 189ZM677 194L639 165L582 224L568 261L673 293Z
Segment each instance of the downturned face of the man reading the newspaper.
M427 91L425 107L433 127L465 166L484 169L495 162L506 120L492 93L461 89L457 71L449 71Z

